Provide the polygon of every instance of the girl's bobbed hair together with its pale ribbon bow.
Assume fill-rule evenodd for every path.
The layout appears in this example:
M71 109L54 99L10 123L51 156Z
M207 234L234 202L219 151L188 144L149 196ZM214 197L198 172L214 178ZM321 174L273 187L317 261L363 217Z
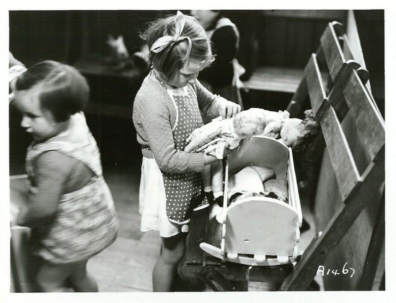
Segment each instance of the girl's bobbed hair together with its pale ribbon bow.
M181 12L157 19L141 37L147 41L149 60L166 82L191 60L203 68L214 60L203 26L194 17Z

